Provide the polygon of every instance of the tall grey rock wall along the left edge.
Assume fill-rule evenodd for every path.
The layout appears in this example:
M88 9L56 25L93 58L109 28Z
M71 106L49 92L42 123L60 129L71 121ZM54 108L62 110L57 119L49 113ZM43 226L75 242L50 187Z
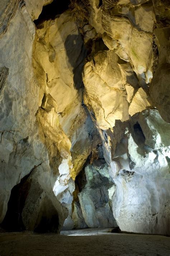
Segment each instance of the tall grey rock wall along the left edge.
M35 28L25 6L18 2L5 2L6 15L5 9L1 9L0 222L4 219L11 189L34 165L47 159L41 142L37 147L38 140L34 141L38 134L34 126L38 90L33 84L30 64Z

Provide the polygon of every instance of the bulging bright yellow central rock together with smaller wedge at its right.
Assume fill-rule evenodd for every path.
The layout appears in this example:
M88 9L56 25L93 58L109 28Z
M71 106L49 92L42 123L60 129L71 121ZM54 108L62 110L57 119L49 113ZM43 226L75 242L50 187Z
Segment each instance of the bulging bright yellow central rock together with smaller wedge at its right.
M101 129L112 129L115 120L126 121L129 115L152 105L148 92L139 88L131 66L121 61L114 51L99 51L87 62L83 82L85 104L93 111Z

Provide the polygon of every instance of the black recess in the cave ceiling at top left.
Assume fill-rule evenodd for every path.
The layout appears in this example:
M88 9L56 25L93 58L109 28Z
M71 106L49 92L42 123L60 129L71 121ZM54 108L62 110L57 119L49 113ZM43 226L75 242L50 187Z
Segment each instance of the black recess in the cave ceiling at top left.
M43 6L42 12L34 23L38 27L44 20L55 19L58 15L69 9L70 0L53 0L51 4Z

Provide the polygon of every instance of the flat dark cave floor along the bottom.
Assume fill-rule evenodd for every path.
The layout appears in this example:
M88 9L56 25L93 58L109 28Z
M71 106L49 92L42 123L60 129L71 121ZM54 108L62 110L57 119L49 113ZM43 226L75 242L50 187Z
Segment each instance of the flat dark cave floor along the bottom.
M0 256L170 255L170 237L165 236L109 233L107 229L62 234L67 236L1 233Z

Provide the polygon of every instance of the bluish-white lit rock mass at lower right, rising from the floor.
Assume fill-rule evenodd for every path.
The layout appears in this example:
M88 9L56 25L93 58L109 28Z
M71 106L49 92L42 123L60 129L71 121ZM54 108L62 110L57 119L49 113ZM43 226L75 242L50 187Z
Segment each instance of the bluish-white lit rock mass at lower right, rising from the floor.
M105 154L110 154L110 175L117 185L113 214L121 230L170 232L169 132L157 110L145 110L108 133Z

